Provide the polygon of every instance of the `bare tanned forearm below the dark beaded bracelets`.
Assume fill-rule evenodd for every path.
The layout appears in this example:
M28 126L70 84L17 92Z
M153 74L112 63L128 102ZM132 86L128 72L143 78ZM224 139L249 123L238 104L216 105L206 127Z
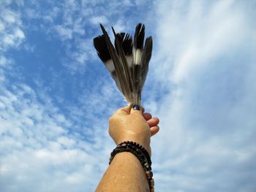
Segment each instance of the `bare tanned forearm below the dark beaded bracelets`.
M138 158L129 152L116 154L96 191L149 191L146 174Z

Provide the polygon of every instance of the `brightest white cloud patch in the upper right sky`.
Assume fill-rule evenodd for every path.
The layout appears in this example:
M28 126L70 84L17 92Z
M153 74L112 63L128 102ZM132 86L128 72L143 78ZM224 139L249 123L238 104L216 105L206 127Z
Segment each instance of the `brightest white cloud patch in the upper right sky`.
M173 12L163 17L158 31L161 33L159 37L165 41L158 41L161 48L159 53L164 53L168 59L163 67L174 67L171 74L173 81L188 78L191 70L197 70L202 64L207 65L216 55L225 54L246 40L246 18L243 12L232 10L231 3L219 1L206 11L202 9L202 1L197 1L184 8L187 9L187 15ZM166 5L160 5L159 12L164 12Z

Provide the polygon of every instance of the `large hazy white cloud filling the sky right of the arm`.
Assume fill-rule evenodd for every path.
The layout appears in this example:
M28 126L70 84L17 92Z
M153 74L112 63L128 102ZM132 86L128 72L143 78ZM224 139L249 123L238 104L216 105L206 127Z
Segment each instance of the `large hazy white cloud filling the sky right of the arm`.
M170 91L158 101L162 129L152 142L157 190L255 191L252 8L235 1L156 5L151 64L160 91Z

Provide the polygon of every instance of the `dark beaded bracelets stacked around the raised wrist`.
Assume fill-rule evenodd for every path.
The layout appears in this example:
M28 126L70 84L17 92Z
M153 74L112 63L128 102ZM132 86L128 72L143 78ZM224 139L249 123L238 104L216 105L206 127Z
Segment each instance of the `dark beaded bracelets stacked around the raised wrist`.
M136 142L131 142L131 141L121 142L110 154L109 164L111 164L115 155L121 152L132 153L138 158L138 160L140 161L140 164L143 166L143 169L146 172L146 178L148 180L150 191L154 192L154 179L153 179L153 172L151 171L152 163L151 163L151 158L148 152L146 151L146 149Z

